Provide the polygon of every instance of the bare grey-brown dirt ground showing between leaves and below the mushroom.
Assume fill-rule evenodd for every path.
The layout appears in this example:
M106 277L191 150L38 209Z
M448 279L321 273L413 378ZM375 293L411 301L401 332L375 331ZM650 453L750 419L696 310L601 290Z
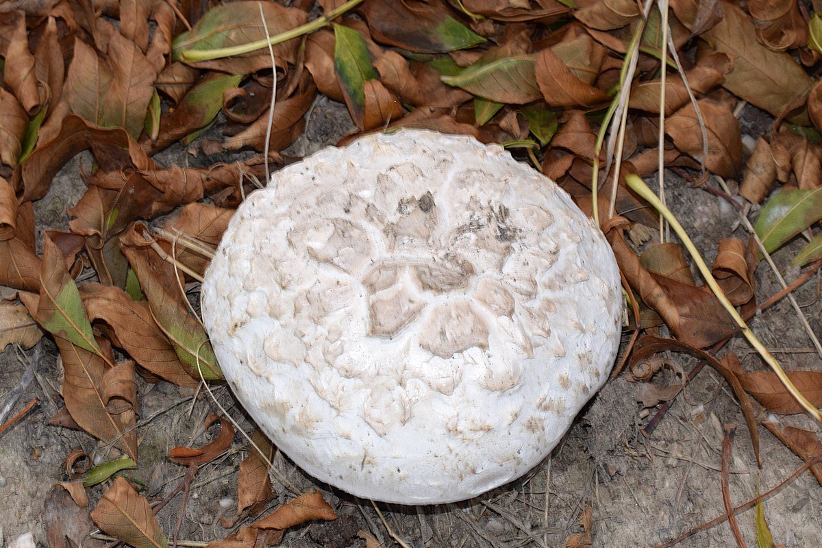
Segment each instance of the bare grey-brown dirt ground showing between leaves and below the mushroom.
M769 120L755 108L741 114L743 134L759 136L768 131ZM310 154L322 145L333 144L350 129L344 107L320 99L310 112L307 130L286 156ZM214 159L211 159L212 161ZM164 155L164 162L196 164L184 150ZM72 161L58 175L53 190L37 205L38 226L65 226L66 211L82 194L78 175L80 163ZM85 160L88 167L88 160ZM738 215L722 199L695 189L669 174L668 203L695 237L707 260L712 261L716 244L722 237L747 238ZM795 250L794 250L795 251ZM774 259L787 268L792 251L780 251ZM767 265L757 269L760 299L778 292L780 287ZM787 281L797 275L788 270ZM815 333L820 326L819 279L812 279L795 293L797 301ZM0 297L5 297L4 292ZM765 311L753 322L754 330L783 361L786 368L820 368L817 356L797 315L787 302ZM625 348L627 338L623 339ZM744 340L732 348L739 353L747 370L761 367ZM60 380L58 352L44 339L38 348L21 355L11 347L0 355L0 408L17 396L15 409L38 397L43 403L11 431L0 437L0 546L31 532L39 546L45 546L44 500L53 484L66 479L64 459L75 449L94 455L95 461L110 458L112 451L80 432L47 426L58 407L53 403ZM675 361L686 371L693 364L685 357ZM36 375L26 375L29 362ZM29 379L28 385L21 380ZM170 463L166 456L175 445L202 444L207 441L202 424L211 412L219 412L207 394L193 394L173 385L149 385L140 381L140 468L133 476L145 481L148 496L168 493L182 479L184 469ZM413 548L470 546L552 546L564 547L566 540L583 532L580 517L589 505L593 515L591 546L655 546L679 536L721 515L720 457L723 427L739 426L733 448L730 490L735 504L767 491L789 477L801 466L799 458L784 448L768 431L760 428L764 465L758 468L751 451L750 438L736 400L721 377L705 368L685 394L676 399L657 430L650 437L640 433L653 416L636 402L638 385L621 375L609 382L580 413L565 440L550 458L519 481L462 504L441 507L393 507L381 504L386 523L405 546ZM213 390L224 408L251 431L252 425L225 387ZM782 421L815 430L806 417L782 417ZM206 543L224 538L238 527L224 518L237 513L236 481L244 442L238 436L233 450L207 465L198 473L185 507L178 539ZM299 489L312 480L278 455L276 466ZM276 476L275 475L275 476ZM273 483L275 500L270 509L291 498L277 477ZM366 546L354 536L358 530L371 532L381 546L402 546L391 540L386 524L368 501L356 500L342 492L328 490L326 500L337 509L336 522L312 524L289 531L282 546ZM90 504L96 504L100 489L92 490ZM178 522L178 496L159 513L167 535ZM804 474L779 490L764 503L774 541L793 547L822 546L822 488ZM67 517L69 519L69 517ZM748 546L756 546L755 513L751 509L737 517ZM229 520L230 521L230 520ZM349 539L349 540L345 540ZM86 541L84 546L103 546L102 541ZM179 546L205 546L186 544ZM582 545L584 546L584 545ZM727 523L691 536L679 545L735 546Z

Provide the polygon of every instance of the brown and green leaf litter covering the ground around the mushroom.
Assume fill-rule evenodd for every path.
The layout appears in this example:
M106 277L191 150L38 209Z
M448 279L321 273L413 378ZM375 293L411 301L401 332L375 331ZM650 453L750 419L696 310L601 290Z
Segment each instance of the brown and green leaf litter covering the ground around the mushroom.
M680 361L685 358L679 352L686 352L713 366L732 387L744 419L732 408L725 410L723 421L746 422L757 459L758 424L806 463L820 454L822 448L810 434L802 434L813 432L807 421L774 426L762 420L764 412L780 421L804 417L788 417L801 408L774 373L753 358L740 361L723 350L727 340L738 338L734 321L692 274L677 244L658 232L653 210L626 186L629 173L653 174L661 155L668 168L695 170L691 173L699 179L695 188L676 189L674 195L704 197L711 192L720 196L714 206L730 200L731 205L714 207L728 226L737 210L754 212L755 235L737 231L731 237L730 230L725 239L710 233L700 239L703 252L715 257L713 276L732 304L742 315L759 312L759 329L769 328L769 311L760 310L757 302L776 291L759 268L754 237L767 252L783 257L786 267L791 263L794 276L822 257L822 87L815 72L822 49L819 15L787 0L742 7L723 0L673 0L670 28L663 29L657 9L640 23L640 6L621 0L573 6L553 0L318 3L53 1L10 2L0 10L0 285L8 288L0 302L0 343L30 348L48 334L62 366L59 392L50 394L50 405L65 406L52 423L94 436L100 458L115 462L122 454L136 463L136 472L118 469L113 479L87 489L99 500L89 511L101 531L132 546L177 541L181 525L182 531L190 530L183 525L186 502L192 504L190 491L203 474L222 469L239 471L229 501L236 518L229 521L240 525L224 534L220 542L226 546L276 544L291 527L334 520L341 511L356 509L334 494L325 495L333 501L328 505L319 491L307 490L311 484L305 478L297 481L306 490L299 495L277 481L283 470L270 477L268 463L277 461L277 453L259 432L243 449L232 421L203 414L206 437L213 435L208 426L216 421L219 435L199 448L178 444L170 449L167 442L158 458L145 436L155 435L151 420L164 420L165 412L156 409L160 418L141 418L141 409L151 409L158 391L168 387L192 394L204 379L220 390L219 364L189 297L196 295L196 280L210 252L233 209L264 173L266 159L292 161L289 145L303 138L307 123L316 118L315 108L322 110L318 105L329 101L347 111L353 129L338 135L339 143L384 127L464 133L509 146L592 214L594 205L600 212L609 210L609 197L615 196L616 214L601 219L603 231L617 255L626 294L637 300L628 305L636 314L626 327L623 353L628 357L632 352L630 361L636 364L676 352L665 359L677 366L653 367L641 380L641 399L658 408L654 426L670 406L688 405L681 400L691 383L699 389L702 377L693 380ZM334 21L323 19L322 14L332 12ZM314 32L288 34L309 21L316 21L310 24ZM266 30L277 40L273 65L267 48L231 56L211 53L265 39ZM662 62L666 37L677 59ZM635 41L640 52L633 78L623 82L626 52ZM195 54L200 58L192 60ZM684 79L677 74L677 62L683 64ZM666 122L659 143L661 71L667 71ZM597 150L608 108L623 88L630 89L630 98L615 177L613 158ZM269 113L272 94L277 99ZM760 133L751 135L745 116L739 115L745 104L768 113L766 123L772 127L760 124ZM743 136L753 139L746 142ZM63 229L71 233L44 234L53 227L35 215L35 208L47 199L60 170L81 153L93 161L84 162L76 177L85 185L85 195L62 213ZM700 173L700 164L707 173ZM594 176L601 185L595 201ZM710 176L737 181L733 196L723 194ZM707 226L696 207L685 207L681 214L697 221L690 223L695 229L700 223ZM640 233L645 236L637 239ZM818 310L818 295L801 290L810 296L807 306ZM770 342L780 345L779 338ZM818 363L801 361L798 353L786 356L788 377L818 407ZM797 366L790 366L792 356ZM601 398L621 382L612 381ZM201 396L195 402L198 413L210 409ZM635 406L640 417L632 396L617 404ZM194 418L178 417L174 424L201 428ZM637 443L626 431L623 435L625 443ZM721 438L719 442L715 449L722 448ZM149 457L141 454L144 444ZM721 469L727 475L731 448L729 442L725 445ZM152 492L144 481L146 458L153 463L152 473L161 477L166 467L176 466L171 463L187 466L187 472L182 480L169 480L173 486ZM764 455L764 470L768 465ZM818 464L806 465L819 474ZM296 472L288 473L290 483ZM550 474L528 481L536 477L546 493L553 489ZM718 508L729 507L727 483L734 474L714 480ZM68 508L58 495L66 489L52 491L44 499L47 508ZM177 525L166 528L155 513L180 493L186 502L172 504L178 507ZM541 546L548 537L567 546L607 546L607 538L597 538L603 534L597 523L604 518L595 504L592 508L585 502L581 514L575 506L584 529L580 534L567 523L552 530L550 500L531 491L526 498L521 508L511 501L507 508L525 514L534 504L543 508L545 517L529 527L522 525L522 516L508 516L497 527L489 515L479 513L473 521L458 520L469 523L458 529L472 546ZM160 504L152 509L149 500ZM271 504L279 509L249 521L270 511ZM767 516L774 529L773 516L762 504L756 510L757 534L770 537L762 524ZM401 543L402 534L413 536L407 530L394 532L387 523L385 530L376 527L366 511L371 509L358 509L366 517L360 526L371 531L361 535L367 545L382 544L386 537ZM570 515L571 508L564 511ZM88 512L72 509L71 515L74 528L54 519L46 523L55 546L64 539L77 543L77 536L89 531ZM431 531L441 539L437 519L442 515L427 516L432 529L420 514L419 535ZM403 521L398 513L393 519ZM746 527L738 523L741 531L733 534L744 542ZM600 531L602 527L610 526L603 522ZM679 527L681 532L684 526ZM347 538L345 546L351 546L353 536L339 538ZM667 536L677 535L671 531Z

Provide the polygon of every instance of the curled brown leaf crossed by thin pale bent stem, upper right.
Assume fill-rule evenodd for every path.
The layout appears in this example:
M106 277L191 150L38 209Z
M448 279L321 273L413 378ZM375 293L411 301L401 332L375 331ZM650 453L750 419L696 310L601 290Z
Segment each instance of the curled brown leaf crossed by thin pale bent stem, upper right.
M708 133L708 157L705 167L722 177L736 177L742 162L742 137L739 121L730 108L708 99L686 104L665 122L665 132L677 148L696 159L702 159L703 143L700 119Z

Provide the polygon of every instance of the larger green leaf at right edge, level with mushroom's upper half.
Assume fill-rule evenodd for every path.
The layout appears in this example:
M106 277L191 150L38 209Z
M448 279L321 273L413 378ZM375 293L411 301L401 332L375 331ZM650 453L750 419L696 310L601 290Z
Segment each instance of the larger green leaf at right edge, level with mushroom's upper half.
M822 187L783 190L765 202L754 228L770 253L820 219Z

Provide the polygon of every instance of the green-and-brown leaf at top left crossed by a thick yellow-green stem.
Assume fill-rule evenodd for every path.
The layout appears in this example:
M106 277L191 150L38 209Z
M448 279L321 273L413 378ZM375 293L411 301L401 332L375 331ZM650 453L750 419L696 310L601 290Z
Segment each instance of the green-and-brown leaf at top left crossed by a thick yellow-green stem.
M280 6L276 2L220 4L206 12L192 27L192 30L174 38L172 59L187 62L193 67L209 68L230 74L251 74L264 68L270 69L271 58L268 48L210 61L190 62L185 58L185 52L189 50L230 48L266 39L266 29L263 28L260 18L261 8L270 36L282 34L308 21L307 12L293 7ZM298 44L298 38L275 44L273 48L277 62L293 63Z

